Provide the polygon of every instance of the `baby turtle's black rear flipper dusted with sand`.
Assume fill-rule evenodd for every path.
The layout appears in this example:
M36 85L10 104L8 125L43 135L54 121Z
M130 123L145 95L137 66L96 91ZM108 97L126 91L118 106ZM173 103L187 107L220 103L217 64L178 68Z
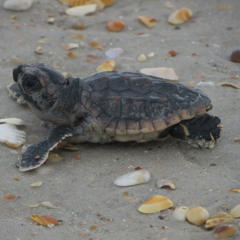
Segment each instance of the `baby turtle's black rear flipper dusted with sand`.
M184 139L190 145L200 148L213 148L220 137L221 120L205 113L202 116L182 121L173 126L169 133L172 137Z

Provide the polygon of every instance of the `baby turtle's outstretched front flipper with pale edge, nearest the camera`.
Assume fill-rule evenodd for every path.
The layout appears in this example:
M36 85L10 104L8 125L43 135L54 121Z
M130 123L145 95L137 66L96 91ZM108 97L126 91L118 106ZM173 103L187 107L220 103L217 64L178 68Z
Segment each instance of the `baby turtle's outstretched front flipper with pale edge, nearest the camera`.
M47 160L49 152L63 139L72 135L72 127L57 126L53 128L47 138L26 149L22 158L16 164L19 167L19 171L29 171L41 166Z

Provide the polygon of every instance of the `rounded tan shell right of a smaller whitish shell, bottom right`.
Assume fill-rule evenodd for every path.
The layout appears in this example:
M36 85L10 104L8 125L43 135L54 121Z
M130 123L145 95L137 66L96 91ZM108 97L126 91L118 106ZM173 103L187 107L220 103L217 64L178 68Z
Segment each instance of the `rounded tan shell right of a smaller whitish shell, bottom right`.
M192 207L187 211L186 218L190 223L201 225L209 218L209 212L201 206Z

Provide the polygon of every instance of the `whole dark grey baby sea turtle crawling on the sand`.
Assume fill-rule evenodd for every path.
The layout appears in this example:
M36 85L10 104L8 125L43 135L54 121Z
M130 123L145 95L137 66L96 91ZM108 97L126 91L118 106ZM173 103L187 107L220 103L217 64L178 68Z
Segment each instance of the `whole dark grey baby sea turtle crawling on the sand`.
M29 146L18 162L20 171L43 164L65 138L74 142L146 142L171 135L201 148L214 147L220 119L206 112L210 99L200 90L132 72L102 72L64 78L44 64L13 70L11 95L21 97L44 122L48 137Z

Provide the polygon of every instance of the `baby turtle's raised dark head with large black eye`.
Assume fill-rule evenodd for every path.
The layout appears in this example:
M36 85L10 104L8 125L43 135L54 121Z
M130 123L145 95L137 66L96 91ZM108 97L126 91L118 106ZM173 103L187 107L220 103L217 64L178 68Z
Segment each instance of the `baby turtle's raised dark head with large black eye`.
M65 78L46 65L22 64L13 69L13 79L18 83L21 94L30 108L42 120L58 100Z

